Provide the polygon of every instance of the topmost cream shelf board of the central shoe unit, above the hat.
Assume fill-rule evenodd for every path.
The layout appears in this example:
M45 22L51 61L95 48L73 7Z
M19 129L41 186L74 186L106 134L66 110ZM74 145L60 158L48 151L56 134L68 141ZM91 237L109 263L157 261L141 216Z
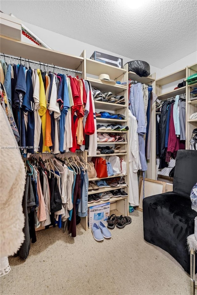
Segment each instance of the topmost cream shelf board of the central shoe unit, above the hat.
M103 62L94 61L93 59L86 58L86 73L90 75L99 76L100 74L107 74L111 80L115 80L122 74L126 73L125 69L107 65Z

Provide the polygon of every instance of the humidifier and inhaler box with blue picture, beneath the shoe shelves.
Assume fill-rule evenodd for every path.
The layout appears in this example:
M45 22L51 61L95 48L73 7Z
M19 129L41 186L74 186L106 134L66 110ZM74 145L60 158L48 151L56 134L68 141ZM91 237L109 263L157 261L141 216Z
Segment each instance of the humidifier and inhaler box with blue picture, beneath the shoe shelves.
M107 226L107 218L110 215L110 202L102 205L95 205L88 208L88 227L91 228L93 223L98 224L99 221Z

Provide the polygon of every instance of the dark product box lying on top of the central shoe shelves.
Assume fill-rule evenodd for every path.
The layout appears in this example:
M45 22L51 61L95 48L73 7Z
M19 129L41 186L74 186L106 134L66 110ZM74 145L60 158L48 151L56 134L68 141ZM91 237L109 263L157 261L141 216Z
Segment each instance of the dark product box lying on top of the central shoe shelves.
M123 59L119 58L117 56L94 51L90 58L93 59L94 61L100 61L100 62L103 62L104 64L113 65L117 68L123 67ZM103 73L103 74L105 74L105 73Z

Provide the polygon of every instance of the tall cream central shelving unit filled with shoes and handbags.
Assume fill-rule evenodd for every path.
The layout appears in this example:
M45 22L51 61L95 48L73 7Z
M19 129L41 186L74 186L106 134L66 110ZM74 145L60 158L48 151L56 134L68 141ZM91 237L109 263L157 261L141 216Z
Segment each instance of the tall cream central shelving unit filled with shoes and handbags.
M100 74L108 74L110 76L110 79L115 80L115 81L128 81L128 71L127 71L127 66L125 69L120 69L115 66L107 65L104 63L100 63L98 61L94 61L92 59L86 58L86 80L90 81L90 84L99 89L101 92L112 92L114 95L124 95L125 96L125 105L123 104L115 104L115 103L108 103L108 102L101 102L101 101L95 101L94 106L95 106L95 111L98 113L100 111L108 111L116 114L124 114L126 116L125 120L117 120L117 119L105 119L105 118L100 118L96 117L96 122L97 124L103 124L107 126L107 124L122 124L122 125L127 125L127 120L128 120L128 91L127 91L127 85L118 85L118 84L111 84L105 81L98 80L98 76ZM90 77L91 75L96 76L96 78ZM127 163L127 171L128 171L128 145L127 145L127 140L128 140L128 132L127 131L115 131L115 130L98 130L98 133L113 133L113 134L119 134L120 136L125 138L125 142L98 142L98 146L116 146L120 145L123 146L123 149L125 149L127 152L126 153L114 153L114 154L99 154L96 155L97 157L103 157L105 158L106 156L111 156L111 155L117 155L120 157L123 157L124 160ZM121 133L121 134L120 134ZM127 136L126 136L127 135ZM88 160L91 160L91 157L86 155ZM113 177L118 177L120 175L113 175L109 178ZM124 176L125 182L128 185L128 178L127 175ZM99 178L94 178L94 179L89 179L90 181L94 180L99 180ZM105 192L105 191L113 191L116 189L119 189L120 187L106 187L106 188L100 188L99 190L91 190L88 192L88 195L91 194L97 194L99 192ZM125 191L128 193L128 187L123 187ZM118 197L114 198L112 197L110 200L106 201L110 202L110 209L117 209L121 212L123 215L128 215L128 197ZM99 205L106 203L104 201L96 202L96 203L90 203L88 204L88 207L94 206L94 205ZM82 226L87 230L88 229L88 219L87 217L81 218L81 223Z

